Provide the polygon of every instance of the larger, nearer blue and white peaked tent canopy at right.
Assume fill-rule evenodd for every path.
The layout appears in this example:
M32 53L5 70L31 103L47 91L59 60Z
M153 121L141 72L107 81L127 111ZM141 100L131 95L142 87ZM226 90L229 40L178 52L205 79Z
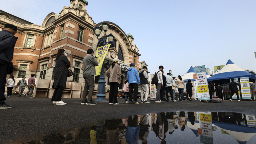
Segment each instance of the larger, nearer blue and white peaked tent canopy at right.
M255 82L255 74L246 72L231 60L228 60L227 64L217 74L207 78L207 80L215 83L230 83L231 78L239 79L241 77L249 77L250 82Z

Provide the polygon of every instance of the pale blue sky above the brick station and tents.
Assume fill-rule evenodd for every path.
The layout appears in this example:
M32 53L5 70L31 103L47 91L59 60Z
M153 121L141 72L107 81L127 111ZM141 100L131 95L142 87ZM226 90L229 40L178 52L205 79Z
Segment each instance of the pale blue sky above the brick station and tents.
M49 13L69 5L69 0L12 0L2 1L0 9L42 25ZM88 0L86 10L95 23L111 21L130 32L150 74L162 65L165 74L171 69L177 77L190 66L213 70L229 58L256 72L255 6L255 0Z

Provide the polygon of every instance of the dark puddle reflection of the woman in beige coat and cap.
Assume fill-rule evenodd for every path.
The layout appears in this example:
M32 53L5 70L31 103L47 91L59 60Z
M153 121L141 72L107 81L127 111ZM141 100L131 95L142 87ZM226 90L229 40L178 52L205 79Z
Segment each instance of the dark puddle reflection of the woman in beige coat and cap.
M106 132L102 135L102 142L104 144L118 144L119 142L119 128L118 128L119 120L106 120Z

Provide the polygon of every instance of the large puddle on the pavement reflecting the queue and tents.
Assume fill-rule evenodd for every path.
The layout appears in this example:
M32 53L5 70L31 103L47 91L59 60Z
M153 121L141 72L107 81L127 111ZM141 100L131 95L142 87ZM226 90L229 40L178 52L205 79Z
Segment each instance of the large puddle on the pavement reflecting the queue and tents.
M105 120L24 144L256 143L256 119L235 112L162 112Z

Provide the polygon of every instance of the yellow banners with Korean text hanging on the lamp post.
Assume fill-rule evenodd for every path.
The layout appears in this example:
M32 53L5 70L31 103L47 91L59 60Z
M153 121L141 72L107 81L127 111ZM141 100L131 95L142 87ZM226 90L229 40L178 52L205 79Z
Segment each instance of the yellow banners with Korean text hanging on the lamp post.
M111 44L108 44L106 46L98 47L97 48L97 55L98 56L98 66L95 67L96 69L96 75L100 75L101 69L102 69L102 64L104 63L104 59L107 55L108 48L110 47Z

